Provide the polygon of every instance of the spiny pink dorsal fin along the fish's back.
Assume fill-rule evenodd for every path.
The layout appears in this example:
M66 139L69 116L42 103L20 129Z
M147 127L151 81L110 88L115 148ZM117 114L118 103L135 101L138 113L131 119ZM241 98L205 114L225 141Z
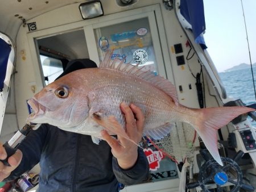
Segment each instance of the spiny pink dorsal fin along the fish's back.
M131 65L130 63L125 64L125 59L112 60L113 52L106 52L104 60L101 62L99 68L108 68L119 70L123 73L132 74L142 80L150 82L154 86L158 87L158 89L164 91L164 93L168 94L175 102L175 105L178 105L177 92L175 86L165 78L150 72L150 70L143 70L143 66L139 67L137 65Z

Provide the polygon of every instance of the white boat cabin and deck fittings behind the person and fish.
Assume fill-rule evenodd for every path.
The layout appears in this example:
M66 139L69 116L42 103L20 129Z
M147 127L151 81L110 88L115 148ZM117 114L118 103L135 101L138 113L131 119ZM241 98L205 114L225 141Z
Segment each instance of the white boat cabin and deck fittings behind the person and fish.
M203 39L203 1L197 3L2 1L1 143L16 139L15 133L32 112L28 99L55 81L67 65L82 59L99 65L108 50L113 51L112 59L144 66L172 82L180 105L245 106L241 99L226 94ZM150 167L148 181L123 186L121 191L254 191L256 133L248 115L256 116L254 112L240 115L218 131L222 167L216 165L187 123L176 122L174 130L163 139L143 139L141 146L150 152L148 161L157 162L157 166ZM40 166L31 172L40 173ZM218 181L213 172L216 177L224 173L226 180Z

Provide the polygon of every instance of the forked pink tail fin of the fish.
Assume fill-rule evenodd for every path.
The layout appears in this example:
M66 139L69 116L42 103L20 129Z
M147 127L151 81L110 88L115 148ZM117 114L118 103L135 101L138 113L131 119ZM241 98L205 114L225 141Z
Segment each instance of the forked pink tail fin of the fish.
M198 118L194 119L192 123L199 133L201 139L204 141L205 147L207 147L210 155L222 165L220 154L217 147L217 130L238 115L245 114L250 111L255 111L249 107L212 107L193 109L200 113Z

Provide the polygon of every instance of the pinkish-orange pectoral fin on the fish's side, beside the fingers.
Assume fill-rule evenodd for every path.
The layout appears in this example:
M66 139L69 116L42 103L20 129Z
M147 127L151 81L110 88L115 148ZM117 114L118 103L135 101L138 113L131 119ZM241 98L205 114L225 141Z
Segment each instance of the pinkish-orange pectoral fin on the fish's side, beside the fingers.
M108 118L100 118L97 115L93 114L93 119L100 124L100 126L104 127L108 132L115 133L118 136L124 137L125 139L131 141L135 145L139 147L139 145L130 139L125 130L122 128L121 124L118 123L117 119L114 116L109 116Z

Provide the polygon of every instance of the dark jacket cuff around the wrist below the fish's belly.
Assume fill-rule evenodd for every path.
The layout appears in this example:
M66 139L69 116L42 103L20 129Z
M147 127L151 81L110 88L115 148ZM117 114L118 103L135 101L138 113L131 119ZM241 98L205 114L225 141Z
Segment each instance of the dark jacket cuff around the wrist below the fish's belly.
M117 162L117 158L113 157L113 172L118 182L123 185L133 185L147 180L149 173L149 165L146 155L141 148L138 148L138 158L135 165L130 169L122 169Z

